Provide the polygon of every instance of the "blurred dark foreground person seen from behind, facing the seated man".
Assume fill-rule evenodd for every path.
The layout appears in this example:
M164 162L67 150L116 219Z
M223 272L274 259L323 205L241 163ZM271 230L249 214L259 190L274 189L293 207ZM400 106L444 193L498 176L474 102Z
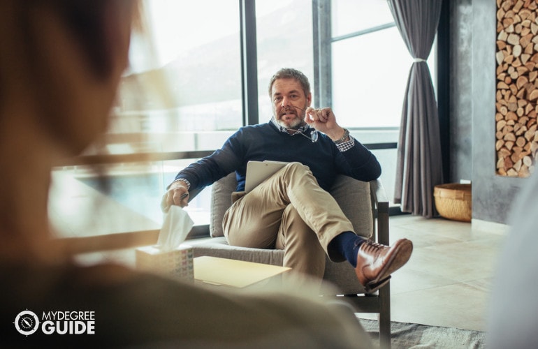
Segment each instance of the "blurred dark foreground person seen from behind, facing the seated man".
M133 0L0 1L0 347L369 348L349 309L83 267L52 239L51 166L106 130L137 9ZM94 333L45 334L29 311L93 312Z

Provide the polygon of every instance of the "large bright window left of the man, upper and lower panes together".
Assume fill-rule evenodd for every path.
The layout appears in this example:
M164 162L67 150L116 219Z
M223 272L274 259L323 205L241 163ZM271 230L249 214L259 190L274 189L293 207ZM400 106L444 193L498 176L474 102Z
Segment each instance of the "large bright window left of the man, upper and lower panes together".
M50 216L62 236L160 228L166 185L243 124L239 1L143 4L108 133L53 171ZM209 200L206 189L187 207L196 225L208 224Z

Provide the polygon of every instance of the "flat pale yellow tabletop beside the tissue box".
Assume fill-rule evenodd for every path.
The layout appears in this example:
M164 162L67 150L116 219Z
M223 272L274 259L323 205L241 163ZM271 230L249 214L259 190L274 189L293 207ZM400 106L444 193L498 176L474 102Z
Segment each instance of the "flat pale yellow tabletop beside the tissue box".
M279 279L291 268L210 256L194 258L194 279L200 283L246 288Z

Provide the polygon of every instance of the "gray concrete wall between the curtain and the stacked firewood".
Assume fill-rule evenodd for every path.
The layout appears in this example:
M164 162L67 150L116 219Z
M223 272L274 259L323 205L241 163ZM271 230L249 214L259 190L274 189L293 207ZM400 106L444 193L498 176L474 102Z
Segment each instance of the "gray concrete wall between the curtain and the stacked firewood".
M495 174L496 1L451 1L451 181L472 180L473 219L508 223L527 179Z

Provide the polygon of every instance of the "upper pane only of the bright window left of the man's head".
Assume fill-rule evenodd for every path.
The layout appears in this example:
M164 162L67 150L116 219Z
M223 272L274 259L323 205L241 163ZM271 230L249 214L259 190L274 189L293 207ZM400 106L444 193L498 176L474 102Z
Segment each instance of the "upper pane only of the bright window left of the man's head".
M145 9L108 142L216 149L242 126L238 1L149 0Z

